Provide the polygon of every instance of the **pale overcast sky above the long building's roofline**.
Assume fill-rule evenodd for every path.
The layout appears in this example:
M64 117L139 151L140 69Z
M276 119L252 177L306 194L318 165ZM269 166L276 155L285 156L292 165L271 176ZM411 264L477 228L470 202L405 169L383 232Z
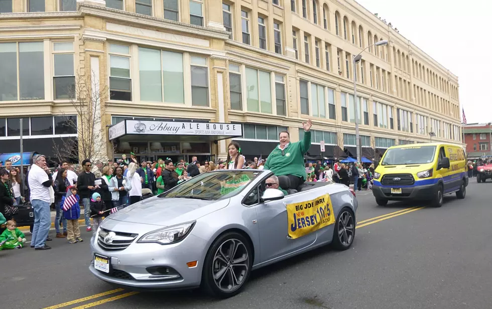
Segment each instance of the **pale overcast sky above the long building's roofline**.
M468 123L492 121L492 1L355 1L458 76Z

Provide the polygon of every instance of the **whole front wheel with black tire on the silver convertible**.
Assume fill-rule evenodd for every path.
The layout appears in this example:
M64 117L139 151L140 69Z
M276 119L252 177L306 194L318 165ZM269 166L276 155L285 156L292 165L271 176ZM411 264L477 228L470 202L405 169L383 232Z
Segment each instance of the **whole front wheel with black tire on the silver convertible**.
M212 296L227 298L241 291L253 264L250 242L237 232L220 235L208 249L202 287Z

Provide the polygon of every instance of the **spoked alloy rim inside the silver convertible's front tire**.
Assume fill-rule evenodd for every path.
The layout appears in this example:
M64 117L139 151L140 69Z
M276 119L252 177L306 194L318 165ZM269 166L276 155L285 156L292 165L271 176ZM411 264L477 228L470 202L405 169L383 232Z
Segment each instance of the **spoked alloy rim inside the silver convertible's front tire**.
M224 241L213 257L212 275L217 287L224 292L238 289L249 271L248 249L237 239Z

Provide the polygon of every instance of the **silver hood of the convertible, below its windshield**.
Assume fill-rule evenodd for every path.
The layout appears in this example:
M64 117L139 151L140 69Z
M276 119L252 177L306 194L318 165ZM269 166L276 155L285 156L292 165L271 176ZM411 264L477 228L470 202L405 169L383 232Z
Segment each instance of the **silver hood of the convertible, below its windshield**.
M229 204L230 199L203 201L153 197L126 207L109 217L112 220L171 226L197 220Z

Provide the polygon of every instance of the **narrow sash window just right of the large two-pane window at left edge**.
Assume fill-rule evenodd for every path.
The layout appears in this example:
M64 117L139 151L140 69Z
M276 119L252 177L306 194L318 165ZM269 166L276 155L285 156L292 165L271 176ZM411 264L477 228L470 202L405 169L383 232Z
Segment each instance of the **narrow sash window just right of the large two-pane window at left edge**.
M53 98L75 98L73 42L53 43Z

